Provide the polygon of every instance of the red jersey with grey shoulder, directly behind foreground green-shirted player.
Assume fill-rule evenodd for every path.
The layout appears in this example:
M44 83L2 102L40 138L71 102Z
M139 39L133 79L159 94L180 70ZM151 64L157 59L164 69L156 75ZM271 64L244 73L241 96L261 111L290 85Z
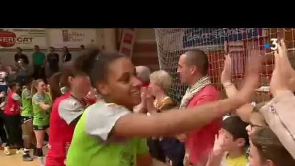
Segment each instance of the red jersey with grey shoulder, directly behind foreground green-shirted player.
M49 149L46 166L65 166L67 150L72 141L77 120L89 105L69 93L57 98L52 107L49 127Z

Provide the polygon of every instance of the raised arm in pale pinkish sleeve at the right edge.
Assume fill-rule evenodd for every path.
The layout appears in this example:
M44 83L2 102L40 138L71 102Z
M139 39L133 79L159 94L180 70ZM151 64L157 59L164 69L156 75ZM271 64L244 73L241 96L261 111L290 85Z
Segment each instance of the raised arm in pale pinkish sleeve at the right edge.
M295 118L295 96L291 91L295 86L292 83L292 80L295 79L295 71L288 60L284 40L280 40L278 43L278 50L274 51L274 56L275 69L270 81L270 91L274 99L263 106L259 112L264 116L269 128L295 159L295 123L293 120ZM291 165L294 166L293 163Z

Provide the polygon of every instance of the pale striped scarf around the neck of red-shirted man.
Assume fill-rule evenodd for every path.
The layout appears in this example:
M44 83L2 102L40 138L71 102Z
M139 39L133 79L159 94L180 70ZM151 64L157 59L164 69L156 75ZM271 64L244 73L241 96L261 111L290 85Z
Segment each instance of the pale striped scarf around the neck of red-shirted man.
M208 75L202 77L195 83L192 87L187 88L184 96L182 97L181 104L179 109L186 108L190 100L205 86L211 84L210 78Z

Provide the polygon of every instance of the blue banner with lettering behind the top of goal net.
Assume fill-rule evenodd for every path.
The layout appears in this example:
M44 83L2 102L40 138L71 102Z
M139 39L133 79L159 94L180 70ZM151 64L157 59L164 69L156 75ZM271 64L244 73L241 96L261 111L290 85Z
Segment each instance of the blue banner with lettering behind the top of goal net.
M187 28L183 48L201 45L223 45L224 41L241 41L259 37L260 28Z

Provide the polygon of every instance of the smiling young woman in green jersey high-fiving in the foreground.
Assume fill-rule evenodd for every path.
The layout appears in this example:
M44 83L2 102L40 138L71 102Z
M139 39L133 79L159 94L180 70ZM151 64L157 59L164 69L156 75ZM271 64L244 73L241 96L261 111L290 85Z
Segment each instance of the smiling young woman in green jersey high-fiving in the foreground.
M132 113L141 102L141 82L131 60L119 53L88 48L75 64L89 73L104 101L84 111L75 127L66 166L150 166L146 142L141 138L171 136L201 128L251 99L259 79L259 59L251 58L244 86L234 97L164 113ZM188 66L196 72L197 66ZM153 98L142 95L148 111L158 112ZM148 160L149 159L149 160Z

